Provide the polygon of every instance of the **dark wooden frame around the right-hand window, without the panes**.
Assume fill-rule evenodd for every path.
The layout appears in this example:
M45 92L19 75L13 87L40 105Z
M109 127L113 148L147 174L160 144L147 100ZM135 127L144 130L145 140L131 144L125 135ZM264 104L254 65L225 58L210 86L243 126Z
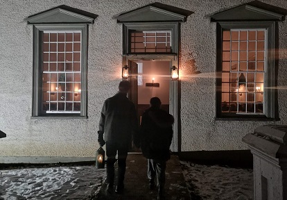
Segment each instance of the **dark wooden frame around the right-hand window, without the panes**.
M277 116L275 116L275 22L218 22L217 23L217 69L216 72L222 72L222 41L223 41L223 29L249 29L249 28L263 28L268 31L267 34L267 42L268 42L268 49L266 49L266 65L265 67L265 76L264 76L264 116L266 119L275 120ZM220 80L216 81L216 85L221 86L221 78ZM225 113L221 112L221 90L218 92L216 91L216 118L217 119L243 119L252 117L251 115L225 115ZM261 115L260 115L261 116ZM259 115L254 115L252 118L260 119ZM261 118L262 119L262 118ZM263 119L263 120L266 120ZM243 119L244 120L244 119Z

